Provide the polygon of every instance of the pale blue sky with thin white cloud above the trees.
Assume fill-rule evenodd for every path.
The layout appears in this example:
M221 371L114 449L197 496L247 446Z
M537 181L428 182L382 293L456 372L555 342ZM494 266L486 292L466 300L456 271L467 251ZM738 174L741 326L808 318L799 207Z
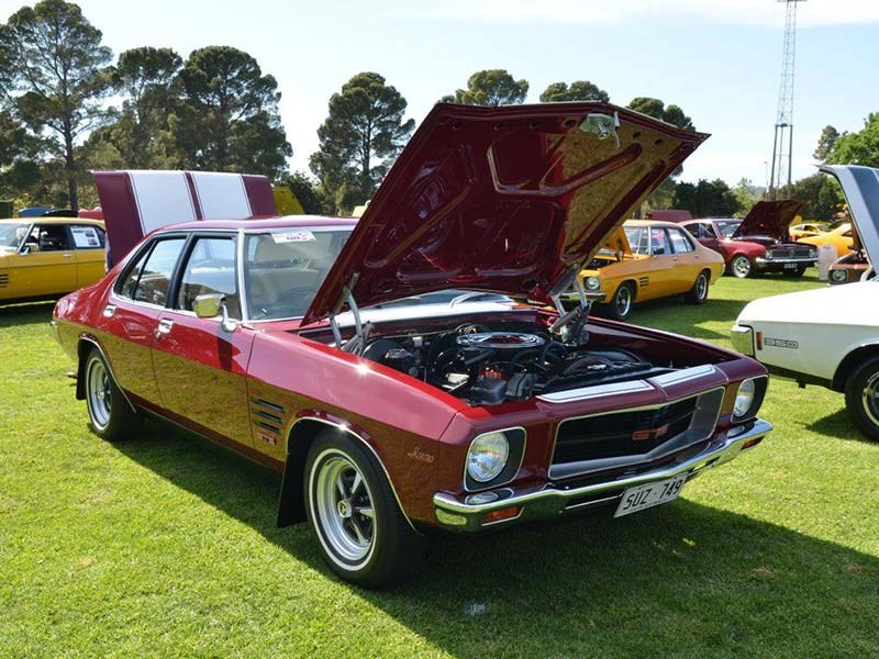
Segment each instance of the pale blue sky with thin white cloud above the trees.
M0 0L0 19L22 2ZM352 75L383 75L420 121L445 93L485 68L507 68L537 101L550 82L589 79L611 100L653 96L712 133L683 178L750 178L771 157L783 3L774 0L81 0L114 53L170 46L183 57L227 44L278 79L293 146L308 168L330 96ZM794 178L813 171L821 129L859 130L879 111L879 1L799 5Z

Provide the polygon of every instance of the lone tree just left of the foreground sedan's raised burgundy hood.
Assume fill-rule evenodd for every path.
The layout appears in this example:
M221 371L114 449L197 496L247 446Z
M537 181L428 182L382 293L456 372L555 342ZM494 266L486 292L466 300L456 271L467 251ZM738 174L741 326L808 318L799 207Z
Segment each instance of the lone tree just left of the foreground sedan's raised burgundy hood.
M329 205L351 209L369 199L415 127L403 121L405 99L378 74L357 74L330 98L310 166Z

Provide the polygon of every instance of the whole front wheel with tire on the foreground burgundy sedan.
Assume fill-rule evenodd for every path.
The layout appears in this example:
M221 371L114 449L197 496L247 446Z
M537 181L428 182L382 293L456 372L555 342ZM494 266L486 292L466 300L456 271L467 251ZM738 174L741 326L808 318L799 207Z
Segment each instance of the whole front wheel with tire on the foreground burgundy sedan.
M305 460L303 488L309 524L336 574L386 588L419 568L426 541L403 516L378 460L355 439L321 434Z

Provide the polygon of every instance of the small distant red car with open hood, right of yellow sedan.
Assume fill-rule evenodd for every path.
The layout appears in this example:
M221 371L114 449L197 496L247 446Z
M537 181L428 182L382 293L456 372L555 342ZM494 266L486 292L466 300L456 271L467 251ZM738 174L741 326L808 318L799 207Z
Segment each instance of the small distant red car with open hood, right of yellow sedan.
M734 277L755 272L801 277L817 260L813 246L794 243L788 235L802 208L799 201L758 201L744 220L706 217L681 225L702 245L723 255Z

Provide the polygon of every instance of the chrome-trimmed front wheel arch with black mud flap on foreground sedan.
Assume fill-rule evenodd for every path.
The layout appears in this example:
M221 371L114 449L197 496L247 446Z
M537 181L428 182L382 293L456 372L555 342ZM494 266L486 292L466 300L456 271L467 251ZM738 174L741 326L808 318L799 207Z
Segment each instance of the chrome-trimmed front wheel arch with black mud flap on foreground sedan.
M305 458L318 436L327 429L353 438L358 446L366 448L367 453L376 459L381 471L385 473L385 478L388 479L388 484L390 485L391 492L393 492L393 498L397 500L397 505L400 506L400 512L403 517L405 517L412 530L418 533L418 529L412 524L412 521L400 501L400 496L397 493L397 489L393 487L393 480L391 480L385 462L369 440L352 428L352 426L344 424L344 422L336 422L316 415L297 418L290 426L290 431L287 435L287 460L283 466L281 491L278 498L278 526L290 526L291 524L305 521L305 501L302 498L302 483L305 478Z

